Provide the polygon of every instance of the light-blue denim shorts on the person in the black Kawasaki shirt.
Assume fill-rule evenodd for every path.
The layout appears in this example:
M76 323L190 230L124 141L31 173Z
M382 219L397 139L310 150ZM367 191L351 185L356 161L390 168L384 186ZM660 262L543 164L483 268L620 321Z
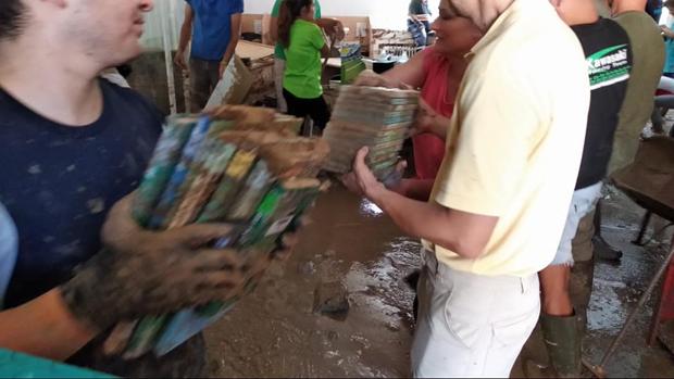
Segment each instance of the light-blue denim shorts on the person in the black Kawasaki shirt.
M573 266L572 242L578 231L578 224L581 224L583 217L592 212L597 201L601 198L602 188L603 181L600 181L573 192L569 215L566 215L566 224L564 224L564 231L562 231L562 239L550 266Z

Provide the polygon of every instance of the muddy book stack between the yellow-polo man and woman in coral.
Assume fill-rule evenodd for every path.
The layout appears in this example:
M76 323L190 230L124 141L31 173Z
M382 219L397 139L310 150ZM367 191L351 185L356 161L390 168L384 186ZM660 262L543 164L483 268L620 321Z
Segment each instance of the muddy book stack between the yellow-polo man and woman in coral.
M323 134L330 147L324 168L350 172L355 153L366 146L367 165L377 178L387 178L395 172L417 108L414 90L342 86Z

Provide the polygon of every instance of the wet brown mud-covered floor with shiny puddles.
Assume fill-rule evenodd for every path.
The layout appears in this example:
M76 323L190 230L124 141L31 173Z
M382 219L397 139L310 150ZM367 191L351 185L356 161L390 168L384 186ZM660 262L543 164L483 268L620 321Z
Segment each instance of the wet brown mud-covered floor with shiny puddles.
M617 265L599 263L589 311L585 357L598 363L663 260L667 239L656 219L646 248L629 241L642 211L609 191L603 232L624 252ZM409 376L413 292L403 278L419 264L420 244L405 237L371 203L335 186L312 213L313 223L286 263L207 331L215 377L402 377ZM314 313L314 289L340 281L349 292L346 317ZM672 355L648 348L653 301L607 365L610 377L674 377ZM535 332L513 369L546 362Z

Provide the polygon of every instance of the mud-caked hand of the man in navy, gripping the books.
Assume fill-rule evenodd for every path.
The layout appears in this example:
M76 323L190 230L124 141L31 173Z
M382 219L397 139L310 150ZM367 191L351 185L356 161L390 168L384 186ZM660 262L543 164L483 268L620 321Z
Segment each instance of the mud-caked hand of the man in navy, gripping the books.
M227 225L149 232L130 227L127 204L117 205L103 231L103 241L112 244L61 287L72 313L92 327L104 329L123 319L230 299L254 270L264 268L235 251L204 248L225 237ZM109 235L120 230L128 235Z

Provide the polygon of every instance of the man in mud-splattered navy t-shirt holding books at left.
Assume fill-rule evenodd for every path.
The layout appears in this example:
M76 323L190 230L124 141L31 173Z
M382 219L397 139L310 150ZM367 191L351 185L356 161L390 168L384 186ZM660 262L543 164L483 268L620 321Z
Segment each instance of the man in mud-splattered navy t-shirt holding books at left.
M16 230L0 250L17 240L0 348L118 376L203 376L201 336L133 361L104 356L100 343L121 320L228 299L254 274L235 253L205 248L226 225L145 231L130 217L126 195L163 117L98 74L140 53L152 5L0 2L0 202Z

